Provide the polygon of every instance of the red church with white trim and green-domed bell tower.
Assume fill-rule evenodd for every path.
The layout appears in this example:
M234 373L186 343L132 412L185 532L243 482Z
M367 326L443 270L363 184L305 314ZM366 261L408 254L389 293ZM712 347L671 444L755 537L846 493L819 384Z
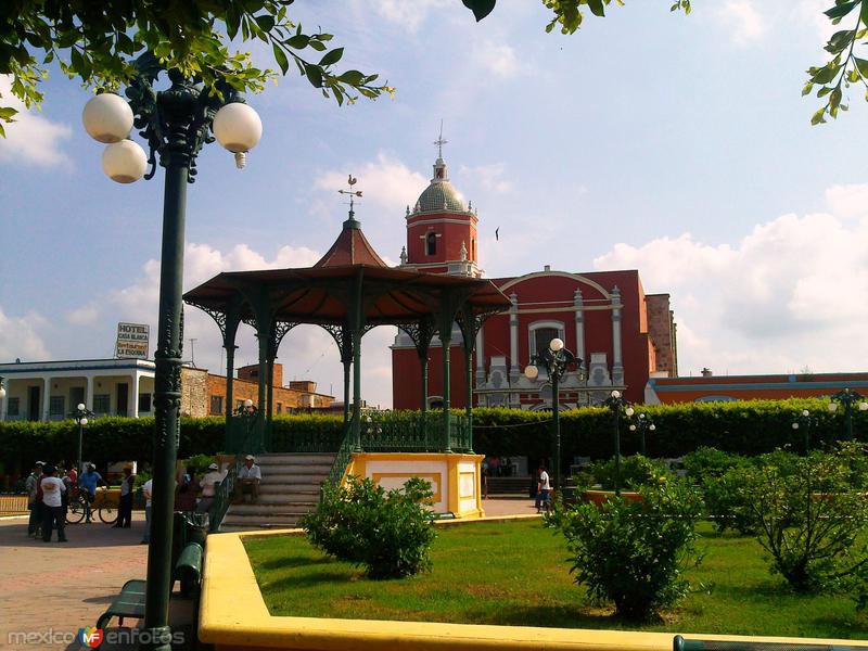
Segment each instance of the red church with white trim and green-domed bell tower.
M442 141L435 144L442 144ZM407 206L407 244L400 268L482 278L478 266L478 215L464 204L449 180L441 153L419 199ZM473 372L474 407L545 409L551 385L545 370L525 378L531 357L554 337L563 340L579 362L560 384L564 408L597 405L617 388L642 403L650 378L678 374L676 326L668 294L646 294L639 272L556 270L493 278L512 303L509 311L489 318L476 337ZM449 350L448 379L452 408L465 407L468 379L456 327ZM435 336L429 350L430 407L443 404L443 346ZM419 409L421 366L412 340L398 331L392 345L393 407Z

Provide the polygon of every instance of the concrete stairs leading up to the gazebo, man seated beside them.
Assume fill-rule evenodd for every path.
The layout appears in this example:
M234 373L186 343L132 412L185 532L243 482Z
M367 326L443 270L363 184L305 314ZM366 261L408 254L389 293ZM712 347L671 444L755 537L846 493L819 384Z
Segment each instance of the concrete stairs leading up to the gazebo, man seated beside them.
M221 532L295 526L302 515L317 507L334 455L260 455L256 463L263 472L258 501L230 506Z

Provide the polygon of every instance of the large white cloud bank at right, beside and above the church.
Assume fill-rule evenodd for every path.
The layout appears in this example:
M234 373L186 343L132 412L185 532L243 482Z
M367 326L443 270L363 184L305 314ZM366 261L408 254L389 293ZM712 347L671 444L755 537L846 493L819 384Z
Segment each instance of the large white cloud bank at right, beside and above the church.
M855 370L868 355L868 302L861 299L868 294L868 217L854 209L860 192L831 188L827 199L841 215L783 215L736 246L685 233L618 244L593 265L638 268L646 291L672 294L681 374L702 367L722 373Z

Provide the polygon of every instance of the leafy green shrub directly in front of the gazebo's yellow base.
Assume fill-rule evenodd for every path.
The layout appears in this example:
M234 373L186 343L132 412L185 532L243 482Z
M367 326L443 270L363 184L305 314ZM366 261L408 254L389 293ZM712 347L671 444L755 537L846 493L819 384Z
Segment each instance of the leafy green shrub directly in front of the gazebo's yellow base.
M423 502L432 496L419 477L386 492L370 478L350 476L345 487L323 487L319 507L299 525L315 547L365 565L370 578L400 578L431 566L436 532Z

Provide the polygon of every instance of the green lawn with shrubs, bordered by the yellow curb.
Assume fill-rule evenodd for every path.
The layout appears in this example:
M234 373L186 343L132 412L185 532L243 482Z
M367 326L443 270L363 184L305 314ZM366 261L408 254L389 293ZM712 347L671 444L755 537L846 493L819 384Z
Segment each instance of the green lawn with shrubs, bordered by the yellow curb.
M868 617L846 595L794 595L769 574L755 539L701 527L694 592L664 622L641 627L586 601L563 537L540 521L442 528L433 571L391 582L365 578L301 536L248 538L245 547L272 615L868 639Z

